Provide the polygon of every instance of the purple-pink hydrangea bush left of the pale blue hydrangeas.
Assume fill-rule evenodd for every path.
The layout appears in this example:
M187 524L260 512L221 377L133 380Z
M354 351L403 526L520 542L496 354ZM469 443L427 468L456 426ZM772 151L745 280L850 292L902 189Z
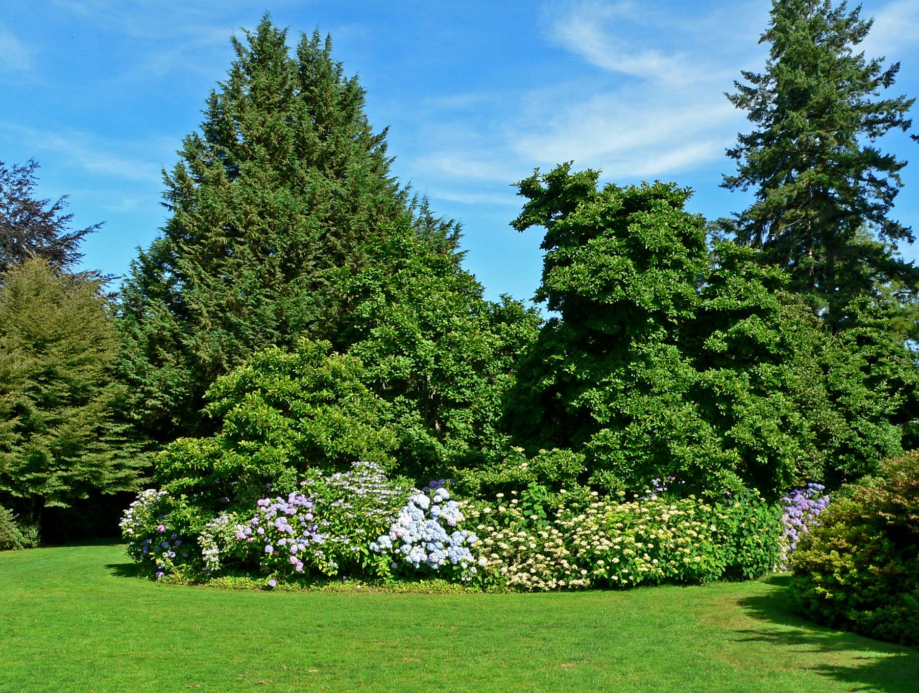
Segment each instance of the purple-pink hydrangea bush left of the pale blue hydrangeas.
M320 548L325 537L319 531L315 498L291 493L287 498L259 498L255 515L236 526L236 539L252 544L268 572L301 573L308 563L325 574L335 574L335 562Z

